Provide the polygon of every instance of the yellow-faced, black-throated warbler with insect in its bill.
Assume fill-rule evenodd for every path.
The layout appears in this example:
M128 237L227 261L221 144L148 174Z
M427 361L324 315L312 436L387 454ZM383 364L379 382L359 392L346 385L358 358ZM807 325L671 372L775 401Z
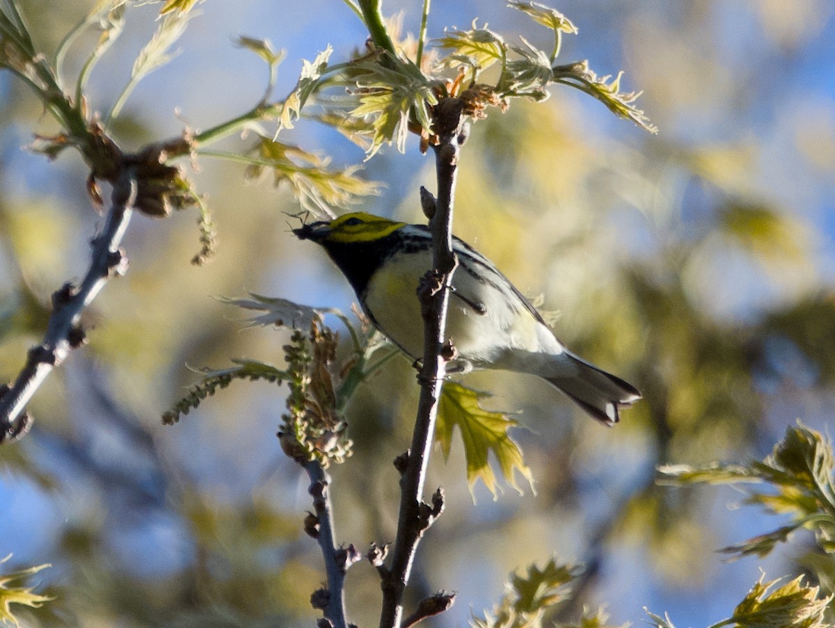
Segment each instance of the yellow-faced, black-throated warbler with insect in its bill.
M413 360L423 357L417 285L432 267L427 225L357 211L293 229L325 249L351 284L362 311ZM448 372L499 369L541 377L605 425L641 398L640 391L570 352L539 311L472 246L453 236L447 334L455 347Z

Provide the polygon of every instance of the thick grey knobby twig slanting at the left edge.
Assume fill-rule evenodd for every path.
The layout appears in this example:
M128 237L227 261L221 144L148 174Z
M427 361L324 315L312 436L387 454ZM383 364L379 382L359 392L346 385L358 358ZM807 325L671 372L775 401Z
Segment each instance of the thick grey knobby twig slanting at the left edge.
M83 344L78 319L111 276L124 272L127 259L119 251L124 231L133 212L138 188L133 166L124 167L113 186L113 206L104 230L92 241L92 259L80 286L66 283L53 294L53 314L43 342L28 352L26 364L12 386L0 398L0 442L21 436L29 419L26 404L53 367L67 357L70 349Z

